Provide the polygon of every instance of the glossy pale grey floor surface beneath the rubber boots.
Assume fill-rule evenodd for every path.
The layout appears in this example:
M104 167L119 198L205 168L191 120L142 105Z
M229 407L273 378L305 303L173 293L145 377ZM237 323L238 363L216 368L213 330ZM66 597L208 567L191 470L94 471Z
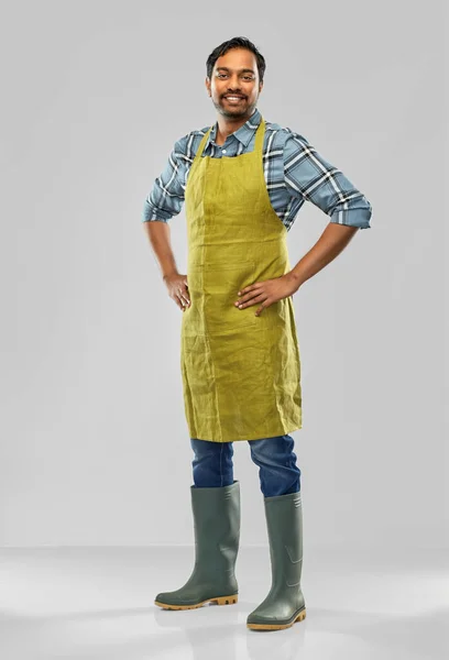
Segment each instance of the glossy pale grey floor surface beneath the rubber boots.
M184 584L193 548L0 550L6 660L443 660L449 557L307 548L307 618L282 631L245 626L270 588L267 548L241 548L239 602L184 612L153 604Z

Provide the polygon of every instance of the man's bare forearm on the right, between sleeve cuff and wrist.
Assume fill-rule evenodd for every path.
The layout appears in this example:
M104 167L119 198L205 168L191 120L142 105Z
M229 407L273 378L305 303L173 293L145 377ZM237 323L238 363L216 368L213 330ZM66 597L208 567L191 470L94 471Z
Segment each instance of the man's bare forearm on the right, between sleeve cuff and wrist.
M357 227L337 224L329 222L315 245L298 261L292 268L289 275L295 279L298 288L307 279L316 275L321 268L327 266L336 258L338 254L348 245Z

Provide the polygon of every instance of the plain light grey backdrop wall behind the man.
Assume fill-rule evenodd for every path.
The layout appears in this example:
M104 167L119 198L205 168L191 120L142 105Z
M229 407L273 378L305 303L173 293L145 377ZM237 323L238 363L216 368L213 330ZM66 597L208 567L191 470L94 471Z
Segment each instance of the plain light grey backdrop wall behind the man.
M262 114L373 206L372 228L294 298L305 542L449 546L441 13L405 0L3 8L0 544L193 542L182 311L140 213L173 143L216 120L207 56L245 35L267 62ZM327 222L305 205L293 264ZM185 272L184 212L171 227ZM262 543L258 469L247 442L234 449L242 543Z

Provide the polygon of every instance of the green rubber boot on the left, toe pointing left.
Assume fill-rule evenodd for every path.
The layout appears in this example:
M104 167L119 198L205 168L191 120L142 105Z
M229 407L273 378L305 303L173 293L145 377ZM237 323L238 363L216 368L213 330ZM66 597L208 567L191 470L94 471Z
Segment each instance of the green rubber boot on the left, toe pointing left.
M195 530L195 566L186 584L157 594L164 609L193 609L205 603L237 603L234 566L240 541L240 483L197 488L190 486Z

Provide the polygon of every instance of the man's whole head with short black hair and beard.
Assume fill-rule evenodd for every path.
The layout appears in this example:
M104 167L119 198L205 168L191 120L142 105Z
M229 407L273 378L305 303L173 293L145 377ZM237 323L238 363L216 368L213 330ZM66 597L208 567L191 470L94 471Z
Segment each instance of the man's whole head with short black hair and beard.
M217 111L234 119L251 117L265 73L265 59L254 44L244 36L223 42L207 58L206 70L206 88Z

